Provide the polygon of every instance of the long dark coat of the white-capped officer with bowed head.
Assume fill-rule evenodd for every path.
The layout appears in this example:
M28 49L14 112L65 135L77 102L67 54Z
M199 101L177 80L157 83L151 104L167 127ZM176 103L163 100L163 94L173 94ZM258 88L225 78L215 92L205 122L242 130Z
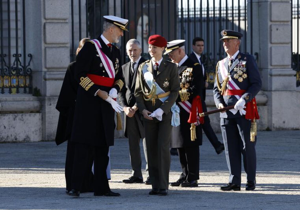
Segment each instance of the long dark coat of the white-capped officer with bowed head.
M191 79L187 82L183 82L182 74L187 68L193 68ZM203 74L202 74L202 66L199 63L195 63L191 58L187 58L186 61L179 67L178 69L179 78L180 78L180 90L182 90L182 85L189 84L187 88L187 92L190 93L189 99L187 100L192 104L193 98L197 95L200 96L201 101L202 99L202 86L203 86ZM190 140L190 123L187 120L190 117L190 113L182 108L182 106L178 103L181 102L182 99L180 95L176 100L176 104L180 108L180 133L183 138L183 142L180 138L172 138L172 147L192 147L192 146L199 146L202 145L202 128L201 124L196 126L196 139L195 141Z

